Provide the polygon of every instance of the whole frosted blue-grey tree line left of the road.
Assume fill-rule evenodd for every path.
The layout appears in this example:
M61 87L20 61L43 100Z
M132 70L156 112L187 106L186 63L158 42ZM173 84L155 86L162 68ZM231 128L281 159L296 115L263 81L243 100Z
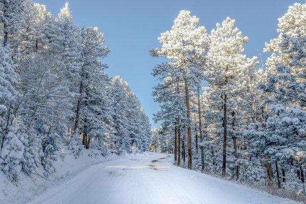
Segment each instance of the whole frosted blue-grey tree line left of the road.
M30 0L0 2L0 170L17 182L44 169L69 149L146 151L150 122L120 77L109 79L109 53L96 27L74 24L68 3L55 18Z

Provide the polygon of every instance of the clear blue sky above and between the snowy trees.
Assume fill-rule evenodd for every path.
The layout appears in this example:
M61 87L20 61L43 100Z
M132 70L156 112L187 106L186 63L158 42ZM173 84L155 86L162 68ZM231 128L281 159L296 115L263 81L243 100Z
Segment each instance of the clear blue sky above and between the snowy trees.
M66 0L32 0L47 6L47 10L57 16ZM200 18L207 32L215 28L227 16L236 19L244 36L249 37L245 46L247 57L258 56L263 52L265 42L278 36L277 19L283 16L291 0L68 0L75 23L81 27L98 27L104 33L105 45L111 52L103 63L109 68L106 73L113 77L120 75L139 97L142 106L150 118L159 109L154 103L152 87L157 84L152 77L152 68L163 61L152 58L149 50L160 46L157 38L160 33L171 30L173 20L180 10L189 10ZM269 54L263 54L263 59Z

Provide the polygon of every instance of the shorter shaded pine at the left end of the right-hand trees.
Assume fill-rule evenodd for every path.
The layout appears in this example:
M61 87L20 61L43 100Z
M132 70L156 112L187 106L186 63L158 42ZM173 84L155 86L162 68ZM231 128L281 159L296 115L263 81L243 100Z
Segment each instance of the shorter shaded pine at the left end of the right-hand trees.
M162 121L163 129L174 129L174 162L180 165L181 129L186 123L186 108L184 87L176 68L169 63L162 63L154 67L152 72L160 82L154 87L154 100L160 103L160 111L154 114L154 120Z

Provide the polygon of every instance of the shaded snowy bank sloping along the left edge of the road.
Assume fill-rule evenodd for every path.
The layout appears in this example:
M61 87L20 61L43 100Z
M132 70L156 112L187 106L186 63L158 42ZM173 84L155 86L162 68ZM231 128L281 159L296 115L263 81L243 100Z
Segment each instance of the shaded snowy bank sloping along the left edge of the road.
M17 184L13 184L7 180L5 174L0 171L0 204L26 203L47 189L56 187L72 179L79 172L92 165L120 158L135 158L139 155L139 153L134 153L120 157L117 155L103 157L100 152L96 149L84 149L79 158L69 154L70 152L66 152L64 159L59 157L54 162L54 166L57 169L56 173L45 178L43 176L43 168L39 167L37 170L38 174L29 176L22 173L20 181Z

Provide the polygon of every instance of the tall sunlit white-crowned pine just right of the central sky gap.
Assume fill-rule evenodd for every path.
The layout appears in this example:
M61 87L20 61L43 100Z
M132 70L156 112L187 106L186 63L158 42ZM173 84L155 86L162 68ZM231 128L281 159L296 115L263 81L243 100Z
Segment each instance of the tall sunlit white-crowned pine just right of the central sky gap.
M199 56L203 56L207 47L207 34L204 27L199 27L199 18L190 16L190 11L180 11L174 20L171 31L162 33L158 38L161 48L153 49L155 56L166 56L176 68L177 76L184 83L186 118L191 123L190 88L199 84L193 74ZM199 68L199 67L198 67ZM187 125L188 167L192 168L191 124Z

